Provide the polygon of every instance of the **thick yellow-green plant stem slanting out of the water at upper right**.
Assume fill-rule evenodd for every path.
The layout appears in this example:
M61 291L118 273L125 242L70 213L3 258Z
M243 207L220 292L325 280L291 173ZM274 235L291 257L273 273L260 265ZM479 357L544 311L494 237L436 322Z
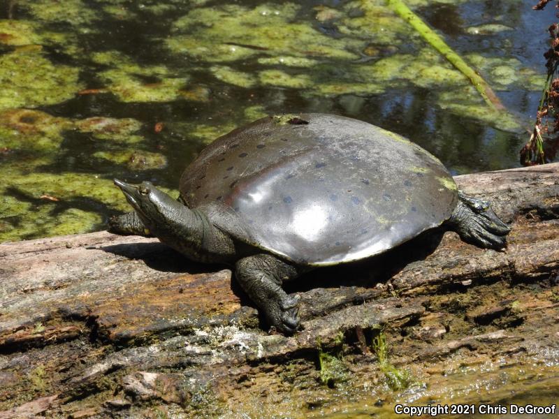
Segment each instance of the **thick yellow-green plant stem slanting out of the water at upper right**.
M412 27L419 32L423 39L425 39L431 46L440 52L444 58L450 61L450 63L455 66L458 71L463 73L474 87L479 91L481 97L484 101L491 106L494 110L504 110L504 105L499 100L498 96L495 94L493 89L489 84L481 78L481 76L474 71L473 68L467 65L467 63L452 50L447 43L445 43L440 36L437 35L433 29L428 27L428 25L421 20L421 17L416 15L402 0L386 0L386 4L389 6L394 13L402 17L403 20L412 25Z

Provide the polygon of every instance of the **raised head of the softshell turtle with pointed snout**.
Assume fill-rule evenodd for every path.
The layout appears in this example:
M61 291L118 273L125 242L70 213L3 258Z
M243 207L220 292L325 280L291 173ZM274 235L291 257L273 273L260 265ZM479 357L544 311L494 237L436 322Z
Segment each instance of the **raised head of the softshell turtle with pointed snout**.
M182 207L180 203L157 189L151 182L128 184L115 179L115 185L124 193L126 200L144 225L152 231L164 226L169 217L173 216L173 212L177 211L177 207Z

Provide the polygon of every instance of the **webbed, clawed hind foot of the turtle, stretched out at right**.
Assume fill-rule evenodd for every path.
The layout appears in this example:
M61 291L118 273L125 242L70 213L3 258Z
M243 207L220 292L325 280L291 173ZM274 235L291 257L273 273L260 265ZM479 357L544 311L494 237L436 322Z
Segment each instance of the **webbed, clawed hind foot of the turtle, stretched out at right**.
M488 249L501 249L507 242L509 226L491 210L488 201L470 198L458 191L458 205L448 223L467 243Z

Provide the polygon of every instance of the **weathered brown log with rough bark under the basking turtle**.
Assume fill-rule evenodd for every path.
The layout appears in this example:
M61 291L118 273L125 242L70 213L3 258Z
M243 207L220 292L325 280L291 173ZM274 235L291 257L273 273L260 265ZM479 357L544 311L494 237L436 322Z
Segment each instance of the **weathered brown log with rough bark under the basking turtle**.
M230 270L157 240L98 232L0 244L0 419L303 417L335 411L342 390L356 405L380 400L371 409L382 412L406 396L386 387L370 348L379 330L391 365L428 384L426 400L456 392L460 365L498 383L504 366L525 372L557 357L559 163L456 181L511 223L506 250L430 232L311 272L288 285L302 297L293 337L261 329ZM326 371L326 359L339 368ZM559 367L546 371L559 388Z

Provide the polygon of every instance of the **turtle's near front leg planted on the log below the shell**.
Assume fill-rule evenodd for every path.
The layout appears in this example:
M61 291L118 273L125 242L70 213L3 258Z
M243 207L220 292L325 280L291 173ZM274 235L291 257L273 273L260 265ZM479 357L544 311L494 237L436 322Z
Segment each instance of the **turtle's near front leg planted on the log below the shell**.
M300 297L287 295L282 283L298 274L296 267L268 254L248 256L235 265L235 277L242 289L261 309L270 326L285 334L298 328Z

